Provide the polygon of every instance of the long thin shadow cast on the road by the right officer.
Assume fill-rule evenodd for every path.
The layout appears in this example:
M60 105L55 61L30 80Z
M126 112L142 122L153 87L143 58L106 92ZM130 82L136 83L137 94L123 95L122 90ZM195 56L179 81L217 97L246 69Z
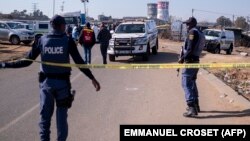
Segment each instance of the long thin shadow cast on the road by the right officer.
M250 116L250 109L243 111L202 111L202 113L210 113L212 115L197 116L198 119L208 118L231 118L231 117L248 117Z

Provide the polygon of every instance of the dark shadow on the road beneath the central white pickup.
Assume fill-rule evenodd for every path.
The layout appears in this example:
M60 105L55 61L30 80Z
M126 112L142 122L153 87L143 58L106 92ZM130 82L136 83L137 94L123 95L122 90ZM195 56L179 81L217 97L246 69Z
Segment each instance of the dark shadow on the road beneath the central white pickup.
M143 61L142 56L131 57L126 60L116 58L116 62L120 63L136 63L136 64L163 64L163 63L176 63L178 61L179 54L172 52L158 52L157 55L150 55L149 61Z

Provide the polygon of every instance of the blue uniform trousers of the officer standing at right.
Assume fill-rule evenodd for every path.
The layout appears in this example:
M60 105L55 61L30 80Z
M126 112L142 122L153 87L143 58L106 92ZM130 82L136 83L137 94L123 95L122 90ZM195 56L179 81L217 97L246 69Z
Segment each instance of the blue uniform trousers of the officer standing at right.
M197 73L199 69L183 69L182 70L182 87L185 92L187 105L193 105L198 101L198 89L196 85Z

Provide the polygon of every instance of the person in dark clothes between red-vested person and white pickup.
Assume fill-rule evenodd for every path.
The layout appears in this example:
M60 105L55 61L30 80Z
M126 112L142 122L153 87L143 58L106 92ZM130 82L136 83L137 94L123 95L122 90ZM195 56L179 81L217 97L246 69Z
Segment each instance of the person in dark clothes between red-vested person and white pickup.
M97 36L97 39L99 40L101 46L100 48L103 64L107 64L107 50L109 46L109 40L111 39L111 34L104 24L101 25L101 30Z

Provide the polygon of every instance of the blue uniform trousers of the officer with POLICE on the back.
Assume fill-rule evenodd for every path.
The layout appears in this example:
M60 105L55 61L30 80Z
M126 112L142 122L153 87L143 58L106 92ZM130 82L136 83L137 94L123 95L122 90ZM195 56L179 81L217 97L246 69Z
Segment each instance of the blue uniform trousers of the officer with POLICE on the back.
M51 117L54 112L55 101L65 99L70 94L68 80L46 78L40 83L40 138L41 141L50 140ZM68 136L67 123L68 108L56 108L57 140L66 141Z

